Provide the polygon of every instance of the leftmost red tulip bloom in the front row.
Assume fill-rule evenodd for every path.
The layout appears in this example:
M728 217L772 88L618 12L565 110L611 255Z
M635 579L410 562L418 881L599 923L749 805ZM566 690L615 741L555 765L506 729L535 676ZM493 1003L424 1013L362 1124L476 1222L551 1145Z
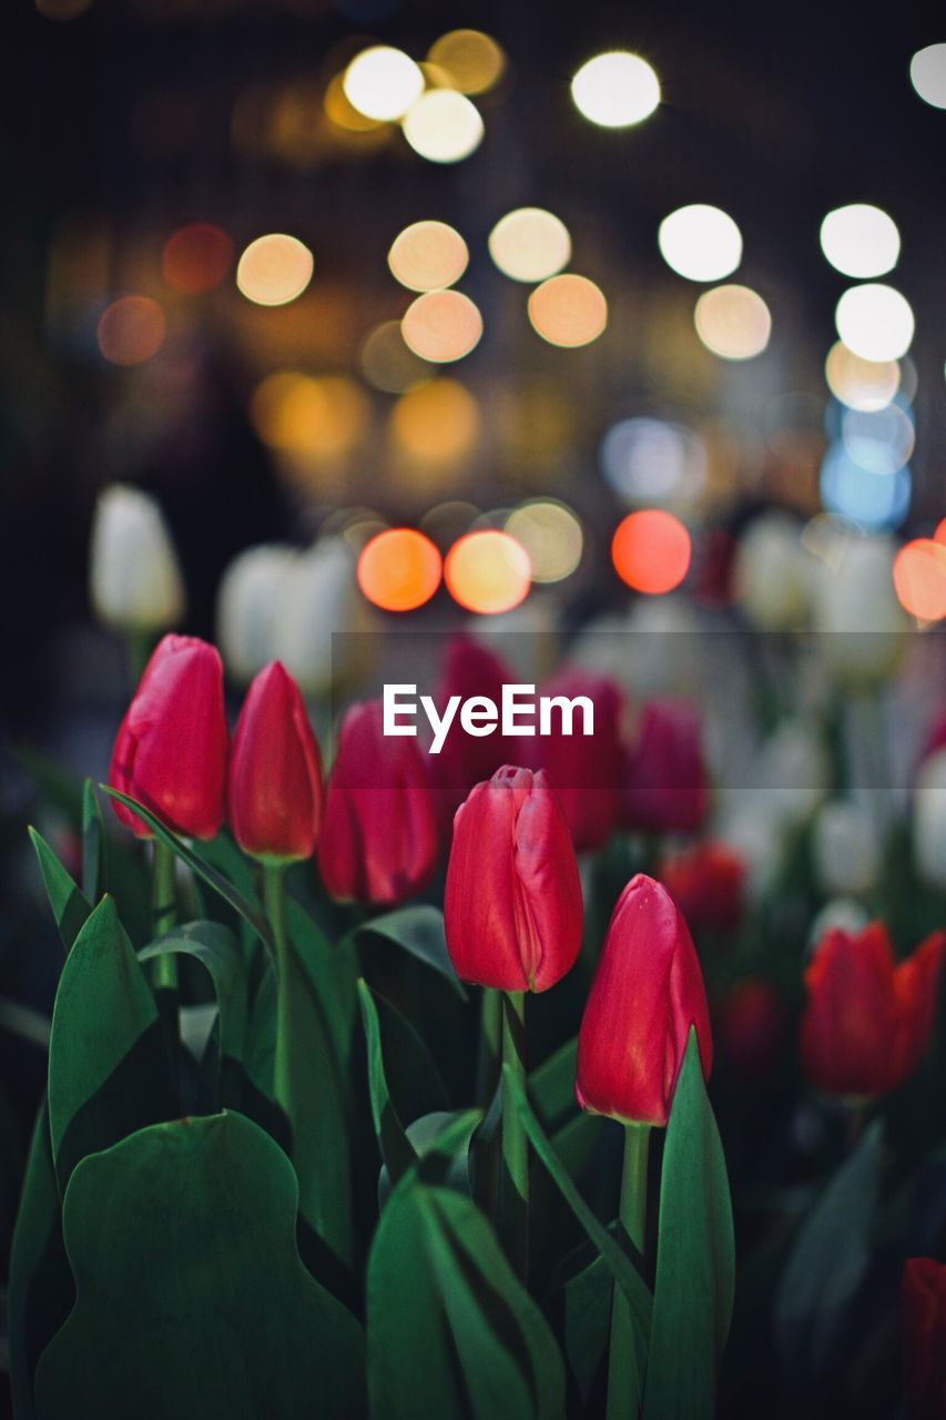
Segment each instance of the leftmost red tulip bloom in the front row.
M230 737L223 665L196 636L165 636L145 667L112 750L108 782L190 838L216 838ZM151 829L124 804L115 814L139 838Z

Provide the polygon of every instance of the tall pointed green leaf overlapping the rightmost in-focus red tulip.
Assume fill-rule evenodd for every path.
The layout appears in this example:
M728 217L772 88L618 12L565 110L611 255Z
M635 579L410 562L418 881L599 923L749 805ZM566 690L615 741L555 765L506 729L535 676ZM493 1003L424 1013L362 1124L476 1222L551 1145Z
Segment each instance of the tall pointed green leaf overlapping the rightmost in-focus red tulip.
M690 1028L663 1145L645 1420L716 1414L734 1278L726 1159Z

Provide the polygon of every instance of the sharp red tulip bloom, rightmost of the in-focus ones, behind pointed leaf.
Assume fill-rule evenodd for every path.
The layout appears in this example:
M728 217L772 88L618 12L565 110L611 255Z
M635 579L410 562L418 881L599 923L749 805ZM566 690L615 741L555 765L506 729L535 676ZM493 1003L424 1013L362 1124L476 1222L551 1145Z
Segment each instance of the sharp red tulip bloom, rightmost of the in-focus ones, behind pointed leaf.
M709 1078L713 1041L693 939L666 888L638 873L614 909L578 1032L581 1108L666 1125L692 1025Z

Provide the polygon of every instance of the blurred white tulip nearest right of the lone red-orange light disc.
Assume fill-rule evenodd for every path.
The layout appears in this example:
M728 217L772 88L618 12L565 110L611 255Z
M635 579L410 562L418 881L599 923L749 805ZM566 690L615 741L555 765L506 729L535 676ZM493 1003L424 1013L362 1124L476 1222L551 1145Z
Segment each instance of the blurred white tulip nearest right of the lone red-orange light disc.
M787 513L764 513L746 530L733 567L736 601L759 630L793 630L810 612L810 557Z

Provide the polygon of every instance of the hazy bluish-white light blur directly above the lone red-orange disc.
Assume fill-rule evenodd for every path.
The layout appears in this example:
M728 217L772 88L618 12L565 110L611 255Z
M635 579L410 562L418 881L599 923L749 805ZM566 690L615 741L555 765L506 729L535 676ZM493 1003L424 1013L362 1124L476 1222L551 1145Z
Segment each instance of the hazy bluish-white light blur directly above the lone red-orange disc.
M598 459L625 503L692 503L706 483L703 440L665 419L621 419L601 440Z

